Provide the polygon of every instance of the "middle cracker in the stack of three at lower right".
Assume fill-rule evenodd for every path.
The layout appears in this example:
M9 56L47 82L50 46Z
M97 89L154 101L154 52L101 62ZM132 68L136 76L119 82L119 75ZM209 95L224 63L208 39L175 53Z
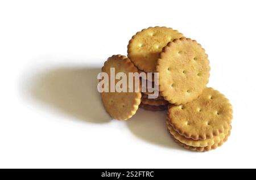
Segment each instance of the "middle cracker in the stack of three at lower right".
M167 119L167 128L170 131L170 134L174 136L175 139L179 140L179 142L193 146L193 147L207 147L207 146L212 146L213 144L218 144L224 138L229 134L229 131L231 129L231 126L227 128L224 132L222 132L218 136L214 136L213 138L206 139L206 140L193 140L191 138L185 138L184 136L181 136L178 132L174 130L174 128L170 125L169 119Z

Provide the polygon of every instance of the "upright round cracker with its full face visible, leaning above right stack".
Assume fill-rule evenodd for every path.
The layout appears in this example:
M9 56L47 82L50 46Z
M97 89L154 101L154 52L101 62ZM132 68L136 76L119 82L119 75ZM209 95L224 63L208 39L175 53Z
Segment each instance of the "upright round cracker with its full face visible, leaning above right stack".
M208 55L195 40L169 42L156 64L160 95L176 105L195 100L206 88L209 71Z

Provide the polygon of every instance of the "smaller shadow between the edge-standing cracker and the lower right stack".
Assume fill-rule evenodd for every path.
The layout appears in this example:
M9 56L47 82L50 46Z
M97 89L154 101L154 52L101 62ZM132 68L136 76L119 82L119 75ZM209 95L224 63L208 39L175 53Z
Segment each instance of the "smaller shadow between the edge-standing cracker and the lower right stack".
M139 108L137 113L127 121L127 127L140 139L162 147L184 150L171 138L166 126L166 111L151 112Z

